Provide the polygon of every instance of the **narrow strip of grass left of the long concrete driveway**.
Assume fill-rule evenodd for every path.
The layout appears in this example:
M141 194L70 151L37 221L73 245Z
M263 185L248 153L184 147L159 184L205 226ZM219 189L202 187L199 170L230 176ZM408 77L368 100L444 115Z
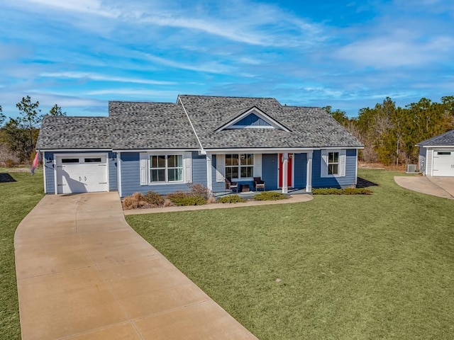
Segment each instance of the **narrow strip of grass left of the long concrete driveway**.
M7 169L0 168L0 172ZM43 170L11 173L16 182L0 183L0 339L21 339L14 263L14 232L43 198Z

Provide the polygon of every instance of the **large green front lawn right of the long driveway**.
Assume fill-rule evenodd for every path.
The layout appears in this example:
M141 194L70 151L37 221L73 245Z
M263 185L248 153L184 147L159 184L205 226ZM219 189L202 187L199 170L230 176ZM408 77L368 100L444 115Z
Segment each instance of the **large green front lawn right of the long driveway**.
M372 196L131 215L259 339L454 339L454 200L362 170Z

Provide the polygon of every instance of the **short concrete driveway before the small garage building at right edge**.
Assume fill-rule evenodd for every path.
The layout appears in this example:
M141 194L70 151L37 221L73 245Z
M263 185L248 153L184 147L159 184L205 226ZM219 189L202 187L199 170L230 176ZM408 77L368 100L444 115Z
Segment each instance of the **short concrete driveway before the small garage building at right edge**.
M454 177L395 176L394 181L412 191L454 199Z

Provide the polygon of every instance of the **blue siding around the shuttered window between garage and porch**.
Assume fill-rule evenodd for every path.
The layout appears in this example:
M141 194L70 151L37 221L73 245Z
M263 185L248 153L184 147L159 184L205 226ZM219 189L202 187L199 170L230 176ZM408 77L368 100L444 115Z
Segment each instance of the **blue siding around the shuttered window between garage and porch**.
M189 191L192 183L201 183L206 186L206 160L198 152L192 152L192 183L155 184L140 186L140 153L121 153L121 195L130 196L133 193L147 193L155 191L160 195L175 193L175 191Z

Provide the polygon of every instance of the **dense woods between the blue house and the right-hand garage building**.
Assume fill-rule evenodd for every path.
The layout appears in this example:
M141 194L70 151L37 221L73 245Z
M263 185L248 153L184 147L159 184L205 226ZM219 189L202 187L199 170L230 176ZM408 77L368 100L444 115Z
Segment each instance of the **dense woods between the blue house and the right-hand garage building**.
M360 160L386 165L416 164L416 144L454 129L454 96L441 102L421 98L404 108L387 97L373 108L361 108L358 116L348 118L345 111L326 111L365 145Z

